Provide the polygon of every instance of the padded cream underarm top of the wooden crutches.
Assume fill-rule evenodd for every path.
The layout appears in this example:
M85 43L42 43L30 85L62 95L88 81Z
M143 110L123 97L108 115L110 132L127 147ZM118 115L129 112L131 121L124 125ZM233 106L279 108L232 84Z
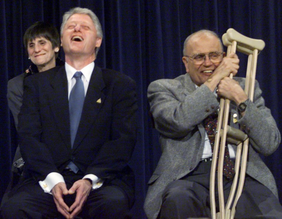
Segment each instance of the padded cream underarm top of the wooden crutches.
M229 28L222 36L223 44L225 46L231 45L234 40L237 42L237 50L247 55L252 54L254 49L261 51L265 46L263 40L246 37L233 28Z

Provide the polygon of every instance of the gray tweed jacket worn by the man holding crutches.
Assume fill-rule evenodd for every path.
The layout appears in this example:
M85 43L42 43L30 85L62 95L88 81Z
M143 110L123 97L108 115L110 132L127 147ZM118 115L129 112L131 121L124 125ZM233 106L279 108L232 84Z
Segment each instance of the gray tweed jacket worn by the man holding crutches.
M234 79L244 89L245 78ZM162 147L162 155L148 182L144 203L146 215L151 219L157 218L162 192L167 184L187 175L201 160L205 138L202 121L218 109L219 102L206 85L196 89L189 74L152 82L148 87L148 99ZM238 129L240 125L250 138L246 173L278 196L273 175L259 153L273 153L279 146L281 136L270 110L264 105L257 81L254 100L249 101L244 117L240 117L232 101L230 113L238 115L238 122L234 123L231 119L230 126ZM233 147L236 151L236 146Z

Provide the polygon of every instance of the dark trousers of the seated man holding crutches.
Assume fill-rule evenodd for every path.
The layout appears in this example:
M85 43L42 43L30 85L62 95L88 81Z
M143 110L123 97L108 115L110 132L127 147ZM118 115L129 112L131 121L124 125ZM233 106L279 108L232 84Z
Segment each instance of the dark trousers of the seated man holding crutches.
M211 161L200 162L183 179L168 184L162 195L159 218L211 218L209 178ZM232 180L224 177L224 202L227 202ZM217 181L216 212L219 212ZM232 207L232 206L231 206ZM282 218L282 207L276 196L264 185L246 175L244 188L236 205L235 218Z

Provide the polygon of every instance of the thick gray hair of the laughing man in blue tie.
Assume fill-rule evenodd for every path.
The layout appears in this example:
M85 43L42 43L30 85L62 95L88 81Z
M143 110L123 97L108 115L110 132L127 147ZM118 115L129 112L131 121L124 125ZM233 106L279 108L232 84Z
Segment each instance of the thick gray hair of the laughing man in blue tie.
M87 14L91 18L91 20L92 20L92 22L95 26L97 36L103 38L103 31L102 31L101 23L100 23L98 17L90 9L80 8L80 7L71 8L69 11L64 13L63 21L62 21L62 25L61 25L61 36L63 35L63 29L66 25L67 20L70 18L70 16L72 16L74 14ZM96 50L95 50L96 56L97 56L98 51L99 51L99 47L96 47Z

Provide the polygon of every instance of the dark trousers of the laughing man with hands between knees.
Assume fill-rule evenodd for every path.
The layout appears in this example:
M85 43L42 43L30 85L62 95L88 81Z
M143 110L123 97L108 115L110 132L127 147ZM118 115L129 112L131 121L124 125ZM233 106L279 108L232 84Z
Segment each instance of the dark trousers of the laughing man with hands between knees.
M83 176L66 170L67 188ZM70 206L75 194L64 196ZM130 218L128 198L123 189L110 183L92 190L84 203L80 218ZM43 191L33 178L28 178L6 192L1 202L1 215L11 218L64 218L57 211L53 196Z

